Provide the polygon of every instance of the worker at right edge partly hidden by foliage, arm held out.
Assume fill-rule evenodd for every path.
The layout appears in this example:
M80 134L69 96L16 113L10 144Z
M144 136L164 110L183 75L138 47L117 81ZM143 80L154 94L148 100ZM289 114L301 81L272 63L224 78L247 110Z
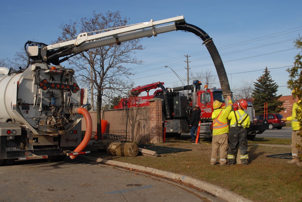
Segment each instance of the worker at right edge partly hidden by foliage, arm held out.
M297 148L297 144L300 145L300 146L302 145L301 144L302 143L302 137L300 137L298 135L299 130L301 128L299 126L299 122L297 122L298 118L296 117L296 109L298 108L298 103L300 103L301 100L299 99L299 97L297 95L294 95L295 92L296 92L296 90L293 90L291 92L292 96L293 96L293 99L295 101L295 103L293 105L293 112L292 112L290 117L281 118L281 120L284 121L284 122L291 121L291 128L293 130L293 132L291 133L291 155L292 155L293 159L291 159L287 163L296 164L297 166L302 166L302 163L301 163L300 157L299 157L299 154L301 154L301 147L300 147L300 150Z

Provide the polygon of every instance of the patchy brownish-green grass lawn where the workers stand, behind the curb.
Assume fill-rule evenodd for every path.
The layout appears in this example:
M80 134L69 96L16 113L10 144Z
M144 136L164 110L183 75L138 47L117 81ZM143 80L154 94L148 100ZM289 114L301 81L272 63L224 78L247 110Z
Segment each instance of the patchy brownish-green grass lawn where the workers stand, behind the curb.
M281 144L289 140L259 138L249 143ZM116 161L152 167L182 175L188 175L231 190L253 201L302 201L302 167L286 163L288 159L268 158L266 155L290 153L291 148L249 146L249 165L227 167L210 166L212 146L210 142L190 144L186 140L167 140L159 146L192 149L192 151L162 154L158 157L113 156ZM107 158L104 152L93 152L89 156ZM109 157L111 158L111 157Z

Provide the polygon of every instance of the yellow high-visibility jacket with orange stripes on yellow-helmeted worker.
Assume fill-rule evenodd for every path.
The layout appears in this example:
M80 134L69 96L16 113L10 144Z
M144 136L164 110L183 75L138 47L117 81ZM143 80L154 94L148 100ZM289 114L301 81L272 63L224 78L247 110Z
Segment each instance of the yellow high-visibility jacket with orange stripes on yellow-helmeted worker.
M227 123L227 117L232 110L232 100L229 100L225 109L215 109L212 113L213 119L213 135L220 135L223 133L229 133L229 125Z

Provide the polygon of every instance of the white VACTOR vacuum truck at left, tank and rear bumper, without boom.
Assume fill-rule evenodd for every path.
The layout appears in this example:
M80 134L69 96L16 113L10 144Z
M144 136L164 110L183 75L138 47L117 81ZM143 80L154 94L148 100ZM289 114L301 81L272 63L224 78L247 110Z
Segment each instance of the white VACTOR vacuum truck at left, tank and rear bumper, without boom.
M20 71L0 68L0 74L0 165L74 158L82 140L81 114L90 118L82 108L87 91L79 88L74 71L35 63Z

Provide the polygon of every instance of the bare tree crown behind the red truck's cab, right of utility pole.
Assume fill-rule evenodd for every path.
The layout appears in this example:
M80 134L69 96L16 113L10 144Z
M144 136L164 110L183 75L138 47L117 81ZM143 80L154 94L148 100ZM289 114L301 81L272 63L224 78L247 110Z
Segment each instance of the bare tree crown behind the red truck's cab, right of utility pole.
M195 72L190 71L189 75L191 80L199 80L203 85L207 85L208 87L218 85L217 75L214 75L210 69Z

